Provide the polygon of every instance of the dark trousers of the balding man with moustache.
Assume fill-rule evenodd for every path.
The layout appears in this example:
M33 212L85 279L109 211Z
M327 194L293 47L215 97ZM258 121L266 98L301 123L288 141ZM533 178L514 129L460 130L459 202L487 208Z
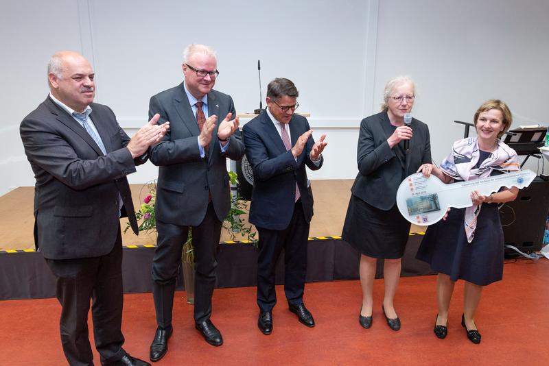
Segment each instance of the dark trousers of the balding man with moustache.
M78 243L75 243L78 245ZM91 304L95 348L105 365L115 363L122 349L122 239L120 230L113 250L105 256L46 259L56 276L56 296L62 310L61 343L70 365L93 365L88 334Z

